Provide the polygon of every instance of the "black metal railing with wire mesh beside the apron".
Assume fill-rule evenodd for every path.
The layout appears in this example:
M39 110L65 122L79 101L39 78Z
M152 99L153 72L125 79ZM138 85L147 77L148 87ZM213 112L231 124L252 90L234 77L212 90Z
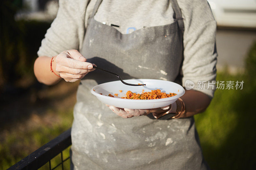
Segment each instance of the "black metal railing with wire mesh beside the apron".
M60 134L55 139L51 140L41 148L37 149L35 152L28 155L26 158L21 159L19 162L8 168L8 170L25 170L25 169L39 169L49 162L49 169L53 170L58 166L63 169L63 163L70 159L70 157L63 159L62 151L71 145L71 128ZM51 167L51 159L55 156L61 156L61 162Z

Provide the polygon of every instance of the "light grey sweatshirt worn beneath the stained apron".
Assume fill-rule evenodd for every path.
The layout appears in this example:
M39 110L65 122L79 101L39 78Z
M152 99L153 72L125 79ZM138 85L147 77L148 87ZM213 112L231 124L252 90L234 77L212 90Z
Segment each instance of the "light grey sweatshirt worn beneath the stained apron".
M216 77L216 21L206 0L177 1L185 25L182 85L190 80L195 83L195 90L212 98L214 88L208 88L208 81L214 82ZM80 50L95 3L96 0L60 0L57 17L45 34L38 56L58 55L68 49ZM113 24L126 34L143 27L172 23L173 9L168 0L103 0L94 19L109 26ZM204 88L200 86L202 82L205 82Z

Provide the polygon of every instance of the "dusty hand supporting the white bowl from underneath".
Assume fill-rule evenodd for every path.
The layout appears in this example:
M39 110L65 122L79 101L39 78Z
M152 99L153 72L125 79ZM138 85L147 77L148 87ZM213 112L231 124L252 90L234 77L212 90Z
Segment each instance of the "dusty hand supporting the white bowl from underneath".
M123 118L131 118L133 116L146 116L150 113L155 112L157 113L162 113L169 109L170 106L165 106L161 108L153 108L153 109L127 109L127 108L118 108L115 106L109 106L109 109L111 109L116 115L121 116Z

